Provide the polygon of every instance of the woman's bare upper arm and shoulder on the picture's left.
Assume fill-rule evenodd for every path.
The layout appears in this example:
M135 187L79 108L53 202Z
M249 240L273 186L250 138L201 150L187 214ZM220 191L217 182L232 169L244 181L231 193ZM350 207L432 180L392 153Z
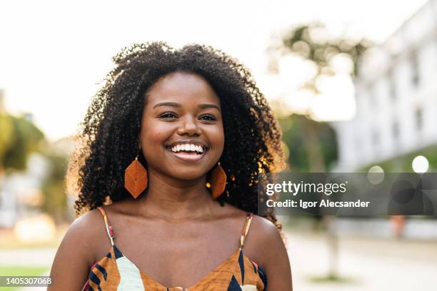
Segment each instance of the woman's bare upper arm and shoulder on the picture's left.
M78 290L83 287L104 239L104 220L99 210L91 210L71 223L58 247L48 290ZM69 272L65 272L69 270Z

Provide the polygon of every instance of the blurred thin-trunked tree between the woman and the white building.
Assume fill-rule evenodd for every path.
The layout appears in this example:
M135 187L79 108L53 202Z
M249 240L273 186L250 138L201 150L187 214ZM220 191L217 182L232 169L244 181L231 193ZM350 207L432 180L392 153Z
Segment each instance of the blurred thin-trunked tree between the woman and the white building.
M278 73L278 57L275 56L277 52L303 58L309 66L316 69L316 73L300 89L316 96L321 93L318 80L336 75L336 59L343 58L343 62L348 60L351 63L349 74L353 78L358 73L360 57L371 45L366 39L333 37L323 24L298 26L283 34L279 46L269 48L269 69ZM337 148L336 136L331 126L311 121L312 116L311 108L308 107L304 116L291 115L283 119L281 125L288 129L283 138L289 149L292 170L321 173L328 170L337 158L337 150L334 150ZM330 249L329 272L324 278L327 280L338 280L338 237L333 231L333 219L328 215L323 217Z

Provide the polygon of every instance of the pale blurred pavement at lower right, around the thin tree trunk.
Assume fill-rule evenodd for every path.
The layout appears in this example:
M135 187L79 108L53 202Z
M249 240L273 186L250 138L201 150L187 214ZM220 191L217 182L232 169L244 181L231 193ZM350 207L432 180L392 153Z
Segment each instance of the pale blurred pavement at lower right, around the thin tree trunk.
M311 282L328 273L324 235L289 231L293 290L436 290L437 242L340 237L338 274L351 282Z

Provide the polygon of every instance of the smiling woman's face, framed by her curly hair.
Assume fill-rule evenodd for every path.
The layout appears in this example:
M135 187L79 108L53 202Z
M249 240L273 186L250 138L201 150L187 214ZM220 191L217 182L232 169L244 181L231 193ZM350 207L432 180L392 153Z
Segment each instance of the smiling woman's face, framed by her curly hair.
M170 73L146 93L141 149L149 171L179 180L205 175L224 146L220 100L194 73Z

